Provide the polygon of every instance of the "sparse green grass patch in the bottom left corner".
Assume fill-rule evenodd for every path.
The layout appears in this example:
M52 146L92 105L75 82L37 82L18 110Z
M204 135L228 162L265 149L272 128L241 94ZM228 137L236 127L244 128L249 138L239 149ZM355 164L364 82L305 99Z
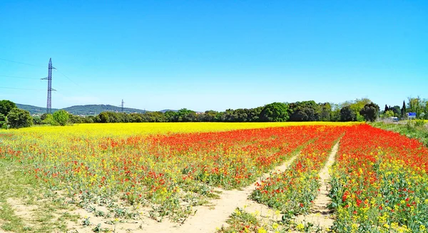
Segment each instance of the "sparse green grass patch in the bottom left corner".
M66 220L76 216L59 213L57 210L64 209L61 202L46 198L51 191L23 171L19 163L0 160L0 232L66 232ZM11 200L32 208L19 214Z

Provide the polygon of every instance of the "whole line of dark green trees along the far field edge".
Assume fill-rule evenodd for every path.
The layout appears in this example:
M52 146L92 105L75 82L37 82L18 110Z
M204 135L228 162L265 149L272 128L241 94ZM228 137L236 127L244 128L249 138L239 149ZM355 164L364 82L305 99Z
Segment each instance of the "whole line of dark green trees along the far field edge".
M406 118L407 113L417 113L418 118L428 119L428 100L409 98L384 110L368 98L340 104L316 103L314 100L294 103L269 103L257 108L238 108L225 111L207 110L197 113L186 108L178 111L117 113L106 111L94 116L79 116L57 110L54 114L31 117L28 111L16 108L9 100L0 101L0 128L23 128L31 125L66 125L76 123L155 123L155 122L285 122L285 121L374 121L377 118L396 116Z

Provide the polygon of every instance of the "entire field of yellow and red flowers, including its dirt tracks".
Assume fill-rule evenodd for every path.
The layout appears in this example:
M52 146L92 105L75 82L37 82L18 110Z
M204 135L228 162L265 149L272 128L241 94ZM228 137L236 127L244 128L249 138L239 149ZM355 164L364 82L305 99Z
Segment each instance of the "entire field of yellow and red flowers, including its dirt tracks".
M355 123L0 131L0 232L427 232L428 149Z

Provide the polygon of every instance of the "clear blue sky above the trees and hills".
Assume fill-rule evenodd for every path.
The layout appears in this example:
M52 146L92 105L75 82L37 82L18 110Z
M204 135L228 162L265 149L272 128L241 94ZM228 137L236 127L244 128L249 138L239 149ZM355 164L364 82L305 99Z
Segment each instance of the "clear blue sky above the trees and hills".
M428 98L428 1L1 0L0 12L0 99L16 103L46 106L46 81L28 78L49 58L53 108Z

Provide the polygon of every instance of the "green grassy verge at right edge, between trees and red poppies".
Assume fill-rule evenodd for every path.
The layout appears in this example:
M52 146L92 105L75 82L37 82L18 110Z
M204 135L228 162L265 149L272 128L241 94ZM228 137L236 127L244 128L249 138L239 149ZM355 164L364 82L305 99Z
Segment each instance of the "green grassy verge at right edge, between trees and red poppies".
M397 132L399 134L407 136L408 138L415 138L420 142L424 143L424 145L428 146L427 123L425 123L425 125L422 125L421 121L417 122L415 120L412 120L402 124L376 122L371 123L371 125L384 130Z

